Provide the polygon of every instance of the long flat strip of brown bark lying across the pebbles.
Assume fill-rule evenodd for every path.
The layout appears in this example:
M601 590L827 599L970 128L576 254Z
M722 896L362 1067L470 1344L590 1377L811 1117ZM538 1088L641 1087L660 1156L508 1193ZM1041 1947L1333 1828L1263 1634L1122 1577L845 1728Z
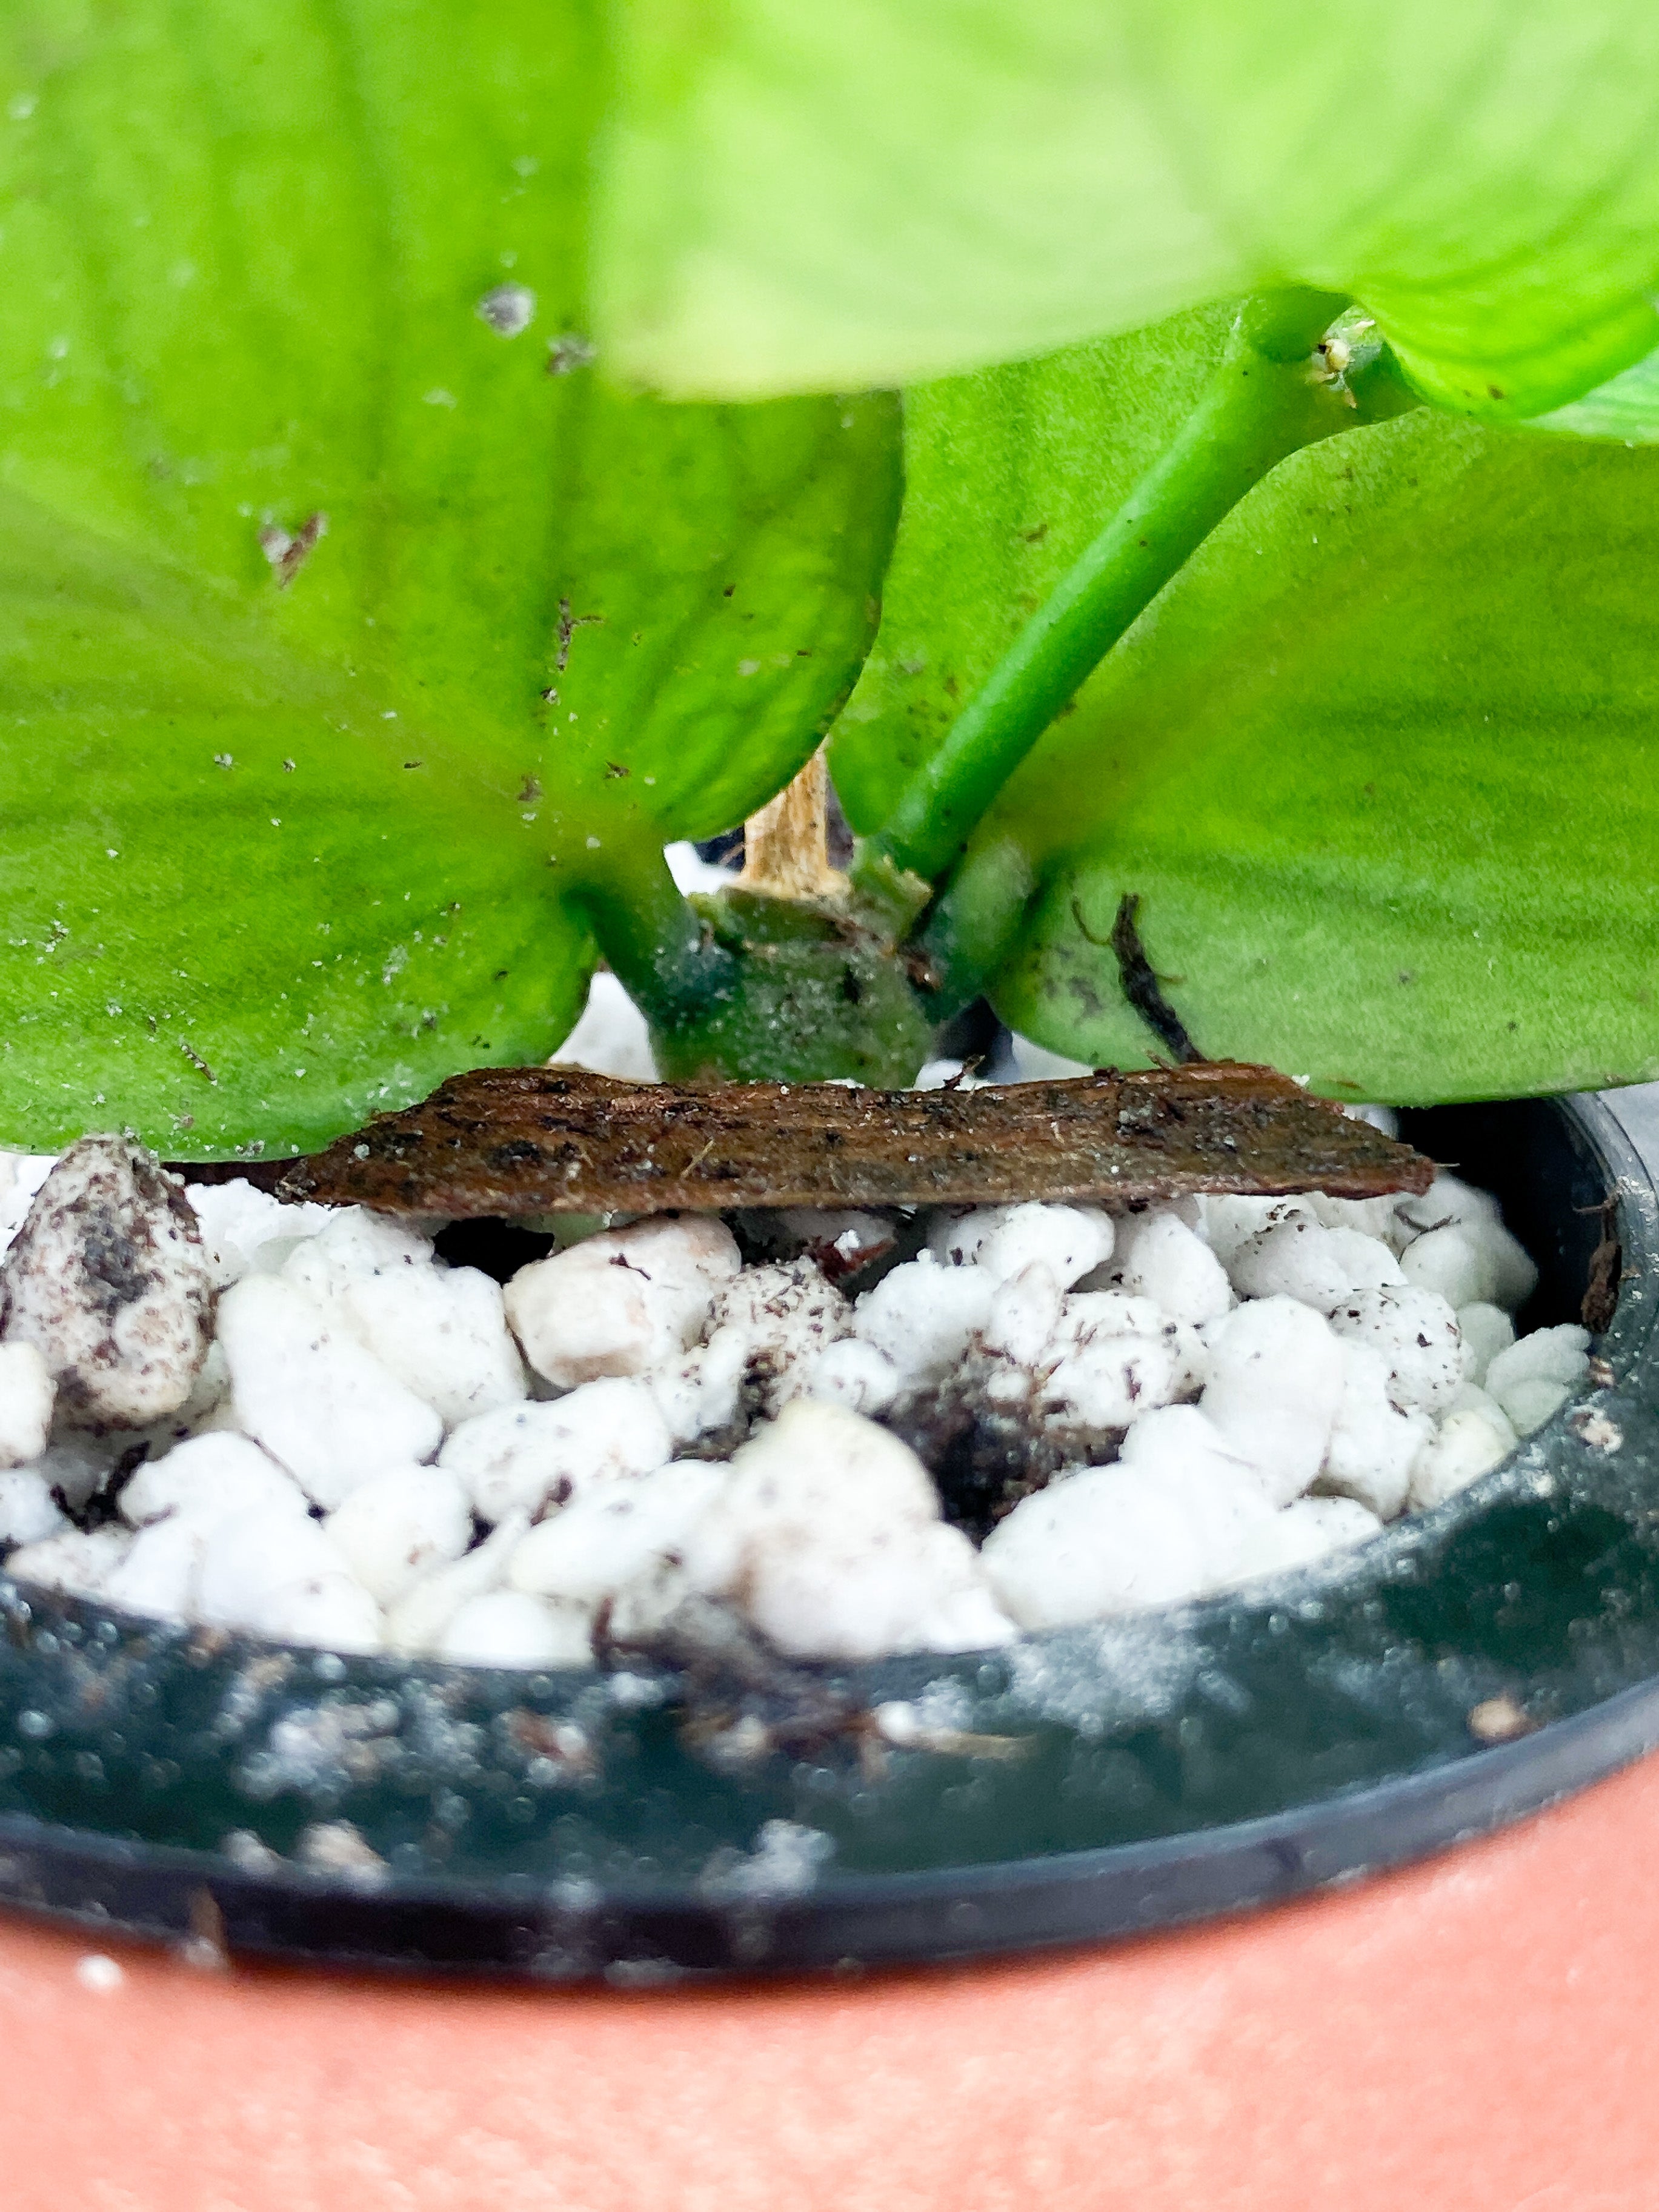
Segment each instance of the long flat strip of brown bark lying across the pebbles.
M1020 1199L1121 1212L1197 1192L1371 1199L1431 1177L1420 1152L1287 1075L1230 1062L980 1091L478 1068L294 1161L276 1190L451 1219Z

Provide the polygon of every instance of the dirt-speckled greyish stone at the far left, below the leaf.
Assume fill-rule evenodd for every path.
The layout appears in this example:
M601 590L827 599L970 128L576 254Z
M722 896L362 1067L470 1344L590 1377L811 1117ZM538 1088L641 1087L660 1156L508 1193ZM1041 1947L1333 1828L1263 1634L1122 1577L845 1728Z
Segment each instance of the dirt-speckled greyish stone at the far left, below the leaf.
M0 1336L35 1345L80 1427L177 1411L212 1340L197 1217L150 1152L71 1144L0 1265Z

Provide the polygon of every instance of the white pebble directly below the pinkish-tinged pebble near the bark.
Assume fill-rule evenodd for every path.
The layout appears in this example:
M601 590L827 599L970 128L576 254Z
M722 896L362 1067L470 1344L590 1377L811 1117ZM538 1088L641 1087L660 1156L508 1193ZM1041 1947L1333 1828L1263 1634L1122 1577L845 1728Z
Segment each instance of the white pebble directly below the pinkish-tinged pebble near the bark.
M549 1405L513 1405L462 1422L438 1464L498 1522L515 1506L540 1515L617 1475L648 1475L675 1455L668 1422L644 1383L606 1376Z

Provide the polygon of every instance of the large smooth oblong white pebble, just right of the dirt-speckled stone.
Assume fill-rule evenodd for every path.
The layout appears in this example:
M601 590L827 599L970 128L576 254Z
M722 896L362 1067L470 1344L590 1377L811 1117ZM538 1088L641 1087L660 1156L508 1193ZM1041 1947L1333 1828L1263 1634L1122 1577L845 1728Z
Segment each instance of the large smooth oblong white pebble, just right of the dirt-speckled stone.
M239 1427L321 1506L442 1442L438 1413L288 1281L243 1276L219 1301L219 1338Z

